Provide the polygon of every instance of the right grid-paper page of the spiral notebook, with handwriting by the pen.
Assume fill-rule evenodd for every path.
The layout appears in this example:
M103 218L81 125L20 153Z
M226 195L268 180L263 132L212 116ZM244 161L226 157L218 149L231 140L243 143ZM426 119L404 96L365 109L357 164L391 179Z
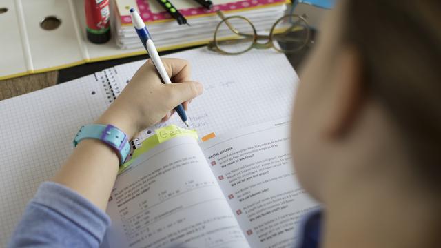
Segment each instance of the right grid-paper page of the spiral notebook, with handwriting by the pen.
M290 115L298 76L284 54L274 50L252 50L238 56L209 52L207 48L171 54L192 65L192 80L204 92L189 105L190 127L200 137L238 127L264 123ZM116 66L119 81L127 83L145 61ZM141 140L154 129L175 124L185 127L177 114L141 132Z

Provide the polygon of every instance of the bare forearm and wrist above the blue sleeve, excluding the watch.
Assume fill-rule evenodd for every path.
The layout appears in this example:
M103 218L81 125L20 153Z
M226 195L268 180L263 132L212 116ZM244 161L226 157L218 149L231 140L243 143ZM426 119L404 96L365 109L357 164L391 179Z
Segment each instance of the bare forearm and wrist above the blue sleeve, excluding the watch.
M96 123L119 127L130 140L136 132L130 122L132 117L125 112L127 116L124 118L112 118L122 117L123 114L119 115L119 112L120 110L112 110L111 107ZM73 154L52 180L70 187L105 211L118 168L119 157L109 145L99 140L85 139L76 146Z

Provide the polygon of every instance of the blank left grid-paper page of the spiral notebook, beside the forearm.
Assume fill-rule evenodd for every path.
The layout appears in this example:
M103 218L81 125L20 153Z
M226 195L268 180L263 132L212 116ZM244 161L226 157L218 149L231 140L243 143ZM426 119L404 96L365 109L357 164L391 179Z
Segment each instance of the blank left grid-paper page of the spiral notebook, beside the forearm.
M0 101L0 247L37 187L71 154L81 125L92 123L108 104L94 75Z

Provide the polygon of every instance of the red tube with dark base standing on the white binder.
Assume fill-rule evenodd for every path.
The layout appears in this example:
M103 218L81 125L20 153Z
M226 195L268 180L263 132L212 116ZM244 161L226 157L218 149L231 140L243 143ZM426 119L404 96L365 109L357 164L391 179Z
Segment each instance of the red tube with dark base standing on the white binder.
M110 40L110 0L85 0L85 22L88 40L105 43Z

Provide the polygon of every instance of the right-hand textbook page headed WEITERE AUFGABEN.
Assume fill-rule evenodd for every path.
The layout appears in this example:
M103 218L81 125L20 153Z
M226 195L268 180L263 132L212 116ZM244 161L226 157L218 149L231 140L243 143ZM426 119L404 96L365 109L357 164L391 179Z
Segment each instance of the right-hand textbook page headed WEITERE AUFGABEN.
M250 247L294 247L300 218L318 207L296 181L289 139L283 120L201 144Z

